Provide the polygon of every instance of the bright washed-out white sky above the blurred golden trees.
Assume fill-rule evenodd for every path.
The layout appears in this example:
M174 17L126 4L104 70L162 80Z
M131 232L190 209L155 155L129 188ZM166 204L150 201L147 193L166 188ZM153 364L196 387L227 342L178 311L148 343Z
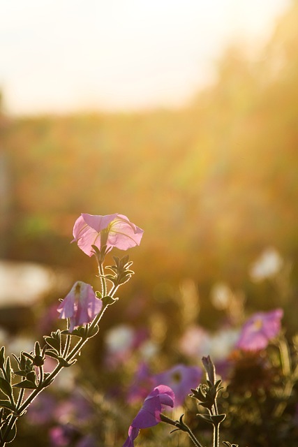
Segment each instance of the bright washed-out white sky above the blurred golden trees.
M0 0L12 115L179 107L225 47L257 54L290 0Z

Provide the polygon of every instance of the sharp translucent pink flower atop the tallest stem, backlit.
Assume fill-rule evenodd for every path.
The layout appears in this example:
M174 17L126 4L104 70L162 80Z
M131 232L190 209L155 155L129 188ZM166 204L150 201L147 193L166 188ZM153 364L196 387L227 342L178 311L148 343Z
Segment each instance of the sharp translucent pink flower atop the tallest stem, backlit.
M94 254L92 245L100 250L103 245L107 250L117 247L127 250L140 245L144 231L129 221L124 214L108 214L107 216L94 216L81 214L73 227L73 241L88 256Z

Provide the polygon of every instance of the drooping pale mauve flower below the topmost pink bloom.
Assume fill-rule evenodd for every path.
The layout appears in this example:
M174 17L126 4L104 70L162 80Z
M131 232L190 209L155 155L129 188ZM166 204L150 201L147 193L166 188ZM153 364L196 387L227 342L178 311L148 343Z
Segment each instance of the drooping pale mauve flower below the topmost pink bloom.
M59 318L69 318L69 332L78 326L90 323L99 314L103 302L96 298L93 288L82 281L73 284L73 288L58 306Z

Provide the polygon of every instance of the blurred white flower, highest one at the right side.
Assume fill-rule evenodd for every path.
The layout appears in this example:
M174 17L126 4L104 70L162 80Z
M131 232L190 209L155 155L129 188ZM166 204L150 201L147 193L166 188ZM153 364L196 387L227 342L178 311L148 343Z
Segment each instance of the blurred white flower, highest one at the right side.
M269 248L251 266L250 274L255 281L274 277L283 266L283 259L276 249Z

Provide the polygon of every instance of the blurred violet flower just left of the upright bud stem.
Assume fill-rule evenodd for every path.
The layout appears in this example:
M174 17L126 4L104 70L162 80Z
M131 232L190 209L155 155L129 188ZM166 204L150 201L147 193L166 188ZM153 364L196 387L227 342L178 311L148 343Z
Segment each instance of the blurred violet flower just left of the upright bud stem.
M154 376L156 385L170 386L174 391L175 405L183 405L184 400L191 388L197 388L202 377L202 372L198 367L176 365L161 374Z

